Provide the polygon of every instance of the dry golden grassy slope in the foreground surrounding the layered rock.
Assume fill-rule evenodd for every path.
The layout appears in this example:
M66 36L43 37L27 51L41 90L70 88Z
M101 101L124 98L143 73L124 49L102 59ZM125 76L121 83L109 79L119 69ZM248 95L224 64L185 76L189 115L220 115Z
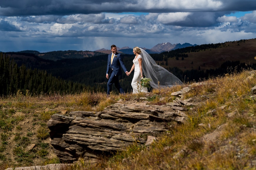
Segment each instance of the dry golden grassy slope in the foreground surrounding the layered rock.
M162 105L185 86L185 94L196 106L189 106L187 123L168 122L169 131L150 146L136 144L97 164L82 159L67 169L255 169L256 159L256 73L249 70L212 77L201 84L184 84L169 89L154 89L145 94L91 93L75 95L41 94L31 97L19 91L0 98L0 170L8 167L59 163L50 145L46 127L50 116L70 111L101 111L120 103L145 102ZM160 100L161 99L161 100Z

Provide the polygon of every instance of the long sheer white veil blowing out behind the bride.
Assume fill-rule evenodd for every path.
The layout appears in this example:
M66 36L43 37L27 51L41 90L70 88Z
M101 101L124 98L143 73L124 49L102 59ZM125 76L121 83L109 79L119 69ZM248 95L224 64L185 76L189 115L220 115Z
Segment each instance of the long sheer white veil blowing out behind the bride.
M175 85L182 85L176 76L170 73L167 69L157 65L154 59L142 48L140 48L142 56L142 71L143 74L152 79L150 86L152 88L158 87L172 87Z

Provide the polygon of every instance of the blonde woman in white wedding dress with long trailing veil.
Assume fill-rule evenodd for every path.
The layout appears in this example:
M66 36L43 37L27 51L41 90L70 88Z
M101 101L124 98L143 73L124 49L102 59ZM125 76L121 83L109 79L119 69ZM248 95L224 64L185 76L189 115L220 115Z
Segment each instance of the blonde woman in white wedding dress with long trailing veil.
M127 76L129 76L134 69L134 76L131 84L133 93L139 93L139 91L147 92L146 87L142 87L137 83L140 82L143 75L151 79L149 83L152 88L172 87L174 85L183 84L167 69L157 65L154 59L142 48L134 47L133 53L135 55L134 60L132 61L133 65L130 72L127 73Z

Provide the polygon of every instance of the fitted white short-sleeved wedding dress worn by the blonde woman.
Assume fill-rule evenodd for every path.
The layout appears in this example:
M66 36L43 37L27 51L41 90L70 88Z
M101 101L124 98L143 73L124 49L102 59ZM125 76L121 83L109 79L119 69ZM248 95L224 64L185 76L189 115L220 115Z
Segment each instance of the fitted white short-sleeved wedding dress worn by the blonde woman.
M134 57L134 60L132 61L134 64L134 76L132 78L132 93L139 93L140 92L144 92L147 93L147 88L146 87L142 87L140 85L140 69L139 69L139 58L142 59L143 62L143 58L141 55L138 55L138 57L136 58L136 56Z

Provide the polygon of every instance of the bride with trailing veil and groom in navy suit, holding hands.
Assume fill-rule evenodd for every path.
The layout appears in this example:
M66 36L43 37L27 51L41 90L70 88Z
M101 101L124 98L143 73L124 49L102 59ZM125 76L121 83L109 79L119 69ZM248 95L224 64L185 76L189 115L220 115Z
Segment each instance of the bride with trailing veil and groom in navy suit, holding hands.
M112 91L112 85L118 89L119 93L124 93L119 83L119 75L121 74L121 67L127 76L134 70L134 76L132 79L132 91L133 93L147 92L147 88L140 86L137 82L145 75L151 79L150 86L152 88L159 87L172 87L174 85L182 84L182 82L174 76L172 73L167 71L165 68L156 64L154 59L142 48L134 47L133 53L135 55L133 65L130 72L127 71L122 55L117 52L117 46L111 45L112 53L108 55L107 62L107 95L109 96Z

